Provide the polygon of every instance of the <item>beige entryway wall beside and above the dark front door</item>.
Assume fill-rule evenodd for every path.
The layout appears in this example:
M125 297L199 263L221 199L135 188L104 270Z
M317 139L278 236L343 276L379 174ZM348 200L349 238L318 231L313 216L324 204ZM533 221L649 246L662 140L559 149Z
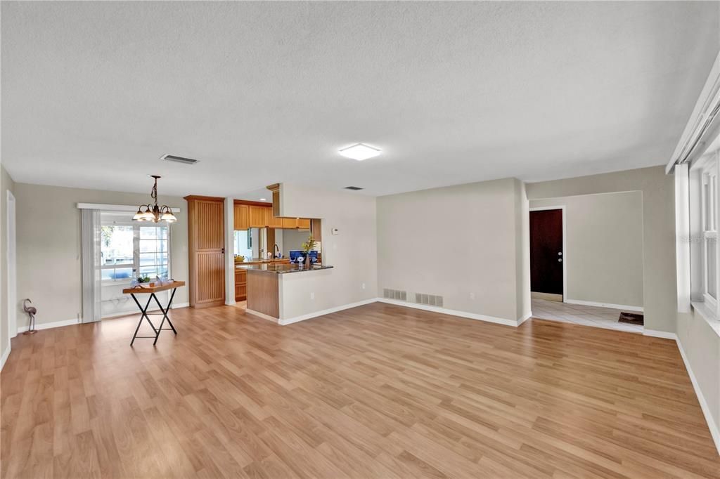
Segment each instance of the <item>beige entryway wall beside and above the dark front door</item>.
M642 193L530 201L565 206L567 300L642 307Z

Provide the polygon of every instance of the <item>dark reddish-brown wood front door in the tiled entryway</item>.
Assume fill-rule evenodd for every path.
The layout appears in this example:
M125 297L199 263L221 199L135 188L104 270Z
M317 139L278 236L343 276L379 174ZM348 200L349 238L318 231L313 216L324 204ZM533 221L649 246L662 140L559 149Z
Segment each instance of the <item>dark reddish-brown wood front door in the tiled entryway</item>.
M530 211L530 290L562 294L562 209Z

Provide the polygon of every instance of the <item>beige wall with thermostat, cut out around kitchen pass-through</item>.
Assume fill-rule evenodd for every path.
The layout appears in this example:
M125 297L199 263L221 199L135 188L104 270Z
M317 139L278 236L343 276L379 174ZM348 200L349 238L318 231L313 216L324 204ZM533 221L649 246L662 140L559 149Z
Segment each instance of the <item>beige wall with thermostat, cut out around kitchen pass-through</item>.
M282 183L280 201L281 216L323 220L323 263L334 266L327 271L282 275L281 319L375 298L375 198ZM337 228L338 234L330 234L331 228ZM310 299L310 293L315 293L314 299Z

